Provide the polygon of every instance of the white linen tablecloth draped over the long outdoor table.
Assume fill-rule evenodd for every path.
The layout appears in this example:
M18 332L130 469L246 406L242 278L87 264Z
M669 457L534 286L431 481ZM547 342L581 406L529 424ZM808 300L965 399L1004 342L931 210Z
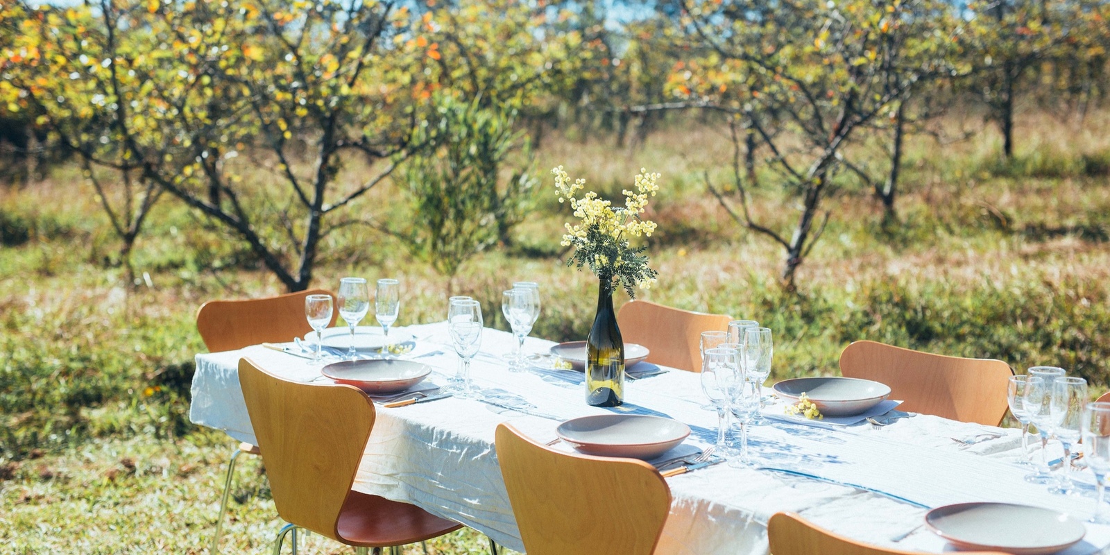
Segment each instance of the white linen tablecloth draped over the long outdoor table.
M430 380L446 385L458 364L446 323L400 330L416 337L406 356L431 365ZM581 373L509 372L503 355L513 351L515 341L497 330L483 333L471 375L486 401L448 397L395 408L375 404L377 417L354 488L416 504L523 551L494 450L498 423L512 423L546 443L564 420L613 412L654 414L690 426L690 436L678 448L704 448L716 441L717 414L704 407L707 400L696 373L670 370L629 381L623 406L593 407L585 403ZM553 344L528 339L524 351L544 353ZM319 364L261 345L198 354L190 417L239 441L255 442L239 384L241 357L289 380L331 383ZM1021 458L1019 430L924 414L887 426L819 426L767 420L750 428L755 465L717 464L667 478L673 501L656 553L766 554L766 523L780 511L799 513L861 542L940 553L952 548L922 526L931 507L1009 502L1068 512L1083 521L1094 509L1089 496L1053 495L1047 486L1025 482L1029 468L1015 464ZM1000 437L970 446L953 441L985 428ZM555 448L569 450L563 443ZM1062 553L1103 553L1110 526L1087 524L1087 529L1083 542Z

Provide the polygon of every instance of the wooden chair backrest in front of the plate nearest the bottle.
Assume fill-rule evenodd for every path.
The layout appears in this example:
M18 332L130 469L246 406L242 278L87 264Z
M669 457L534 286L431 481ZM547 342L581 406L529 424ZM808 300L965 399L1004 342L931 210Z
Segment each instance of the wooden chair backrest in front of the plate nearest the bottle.
M650 555L670 511L652 465L553 450L500 424L497 462L528 555Z

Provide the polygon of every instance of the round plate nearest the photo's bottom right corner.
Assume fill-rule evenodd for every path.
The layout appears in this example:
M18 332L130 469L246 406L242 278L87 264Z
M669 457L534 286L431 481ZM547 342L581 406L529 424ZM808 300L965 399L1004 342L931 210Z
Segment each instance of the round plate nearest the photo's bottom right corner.
M959 503L929 511L925 523L959 549L1042 555L1066 549L1087 528L1056 511L1011 503Z

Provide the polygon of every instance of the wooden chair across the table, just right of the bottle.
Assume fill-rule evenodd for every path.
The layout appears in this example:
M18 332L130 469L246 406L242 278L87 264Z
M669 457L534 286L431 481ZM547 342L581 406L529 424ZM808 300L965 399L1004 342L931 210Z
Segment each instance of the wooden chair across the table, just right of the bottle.
M626 343L646 346L647 360L664 366L702 372L702 332L728 331L733 319L723 314L673 309L648 301L632 301L617 313Z

